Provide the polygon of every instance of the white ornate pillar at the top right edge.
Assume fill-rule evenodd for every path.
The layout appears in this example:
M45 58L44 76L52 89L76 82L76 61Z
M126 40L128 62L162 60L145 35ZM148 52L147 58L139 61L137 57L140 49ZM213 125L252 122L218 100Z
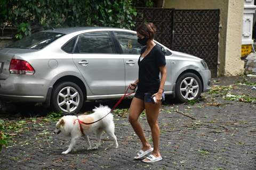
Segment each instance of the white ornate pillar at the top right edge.
M253 14L256 6L254 0L244 0L244 18L243 18L243 35L242 45L252 45L252 28L253 28Z

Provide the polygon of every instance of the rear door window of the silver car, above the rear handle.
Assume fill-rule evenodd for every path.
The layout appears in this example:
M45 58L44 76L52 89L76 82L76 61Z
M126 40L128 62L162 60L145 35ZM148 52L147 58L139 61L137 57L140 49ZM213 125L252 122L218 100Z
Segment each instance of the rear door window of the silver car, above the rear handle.
M89 32L78 37L75 53L115 53L108 32Z

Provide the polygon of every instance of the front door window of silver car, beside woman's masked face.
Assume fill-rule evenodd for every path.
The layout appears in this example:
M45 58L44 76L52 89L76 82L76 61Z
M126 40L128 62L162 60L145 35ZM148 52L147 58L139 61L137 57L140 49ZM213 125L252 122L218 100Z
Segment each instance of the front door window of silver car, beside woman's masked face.
M124 54L140 54L141 45L137 35L129 32L114 32Z

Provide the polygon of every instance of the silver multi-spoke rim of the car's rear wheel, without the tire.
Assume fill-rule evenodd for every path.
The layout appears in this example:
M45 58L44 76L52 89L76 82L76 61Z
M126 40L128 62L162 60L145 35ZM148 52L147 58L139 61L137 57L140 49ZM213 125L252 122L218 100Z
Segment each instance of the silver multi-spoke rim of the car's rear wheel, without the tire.
M65 87L58 94L58 105L63 112L73 112L79 105L78 91L73 87Z

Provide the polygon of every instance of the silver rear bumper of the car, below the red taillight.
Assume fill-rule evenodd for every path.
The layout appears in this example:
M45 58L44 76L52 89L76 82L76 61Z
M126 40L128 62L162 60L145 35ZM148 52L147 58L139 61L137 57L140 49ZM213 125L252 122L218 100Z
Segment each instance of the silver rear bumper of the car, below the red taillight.
M0 100L11 102L44 102L50 82L28 75L10 75L0 80Z

